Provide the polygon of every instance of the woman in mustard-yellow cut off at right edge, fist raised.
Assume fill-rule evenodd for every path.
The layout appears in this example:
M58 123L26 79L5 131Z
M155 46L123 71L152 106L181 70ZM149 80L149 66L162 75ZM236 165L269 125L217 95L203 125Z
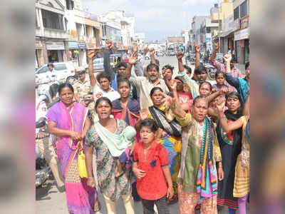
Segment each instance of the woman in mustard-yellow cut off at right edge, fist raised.
M237 156L237 163L234 166L233 197L237 198L239 213L247 213L247 198L249 196L249 97L244 103L244 116L229 123L227 115L223 112L224 98L218 98L216 106L219 122L224 131L237 131L242 128L242 149Z

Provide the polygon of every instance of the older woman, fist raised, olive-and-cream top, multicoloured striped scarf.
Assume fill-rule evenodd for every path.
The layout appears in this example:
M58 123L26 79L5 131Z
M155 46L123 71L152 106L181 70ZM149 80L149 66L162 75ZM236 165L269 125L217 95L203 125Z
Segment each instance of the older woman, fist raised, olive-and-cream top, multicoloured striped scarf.
M181 166L177 178L180 214L217 213L217 180L222 180L222 157L211 119L209 103L204 96L193 101L191 113L185 113L177 101L173 113L183 128ZM216 162L219 165L216 169Z

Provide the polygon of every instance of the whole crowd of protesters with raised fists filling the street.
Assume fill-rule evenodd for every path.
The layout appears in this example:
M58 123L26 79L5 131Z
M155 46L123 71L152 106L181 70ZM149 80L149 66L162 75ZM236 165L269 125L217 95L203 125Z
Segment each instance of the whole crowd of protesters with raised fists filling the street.
M93 73L95 51L88 52L88 75L79 73L71 86L58 88L61 101L46 115L55 136L69 213L100 212L98 191L108 214L116 213L118 198L127 214L141 200L143 213L247 213L249 196L249 63L245 75L235 58L210 62L217 68L216 84L196 58L195 70L177 52L179 72L155 59L154 49L138 47L128 63L113 69L104 50L104 71ZM150 51L151 62L144 57ZM199 56L199 46L195 46ZM132 69L134 67L134 69ZM90 96L93 101L86 101ZM86 155L87 178L78 173L78 152Z

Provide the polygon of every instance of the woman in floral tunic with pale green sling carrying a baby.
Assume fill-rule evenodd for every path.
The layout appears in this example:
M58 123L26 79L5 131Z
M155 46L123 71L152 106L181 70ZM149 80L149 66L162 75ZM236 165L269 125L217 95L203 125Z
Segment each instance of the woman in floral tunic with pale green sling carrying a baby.
M99 121L90 126L86 136L86 168L88 186L95 187L93 177L93 149L97 157L97 176L100 191L105 198L108 213L116 213L115 203L122 197L127 214L134 214L134 202L131 195L130 172L118 173L118 156L125 151L125 146L118 142L118 136L124 133L127 123L111 118L112 103L101 97L95 103L95 111Z

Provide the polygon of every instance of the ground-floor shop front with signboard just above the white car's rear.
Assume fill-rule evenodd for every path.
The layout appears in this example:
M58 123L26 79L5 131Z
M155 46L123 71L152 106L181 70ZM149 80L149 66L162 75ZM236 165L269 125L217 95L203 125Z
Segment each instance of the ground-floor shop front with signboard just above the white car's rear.
M86 48L85 42L68 41L69 54L76 66L86 66Z

